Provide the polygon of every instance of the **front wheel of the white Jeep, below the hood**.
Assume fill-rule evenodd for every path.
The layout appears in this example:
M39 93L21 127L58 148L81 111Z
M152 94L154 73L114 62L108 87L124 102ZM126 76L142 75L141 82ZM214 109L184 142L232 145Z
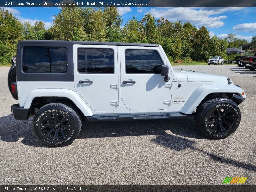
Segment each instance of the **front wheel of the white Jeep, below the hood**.
M228 118L228 116L231 116L229 118L231 122L228 122L230 124L230 127L228 127L228 125L224 122L219 122L221 118L219 118L218 120L216 118L215 120L215 124L217 124L216 128L215 128L215 125L214 126L212 126L213 124L210 125L212 121L210 120L210 118L214 119L213 117L215 114L214 111L216 110L217 111L220 110L220 113L224 113L227 110L227 112L225 112L223 116L225 117L226 115L225 118ZM222 110L223 112L221 112ZM226 98L216 98L216 99L208 100L203 104L201 104L196 109L196 113L195 113L195 124L197 128L203 135L212 139L223 139L228 137L232 133L234 133L240 124L240 119L241 119L241 113L238 106L236 105L235 102ZM218 128L218 126L220 126L220 123L223 126L227 126L227 128L224 129L225 131L223 130L223 132L218 131L218 129L221 129L221 128ZM213 129L215 130L217 129L217 132L213 131Z

